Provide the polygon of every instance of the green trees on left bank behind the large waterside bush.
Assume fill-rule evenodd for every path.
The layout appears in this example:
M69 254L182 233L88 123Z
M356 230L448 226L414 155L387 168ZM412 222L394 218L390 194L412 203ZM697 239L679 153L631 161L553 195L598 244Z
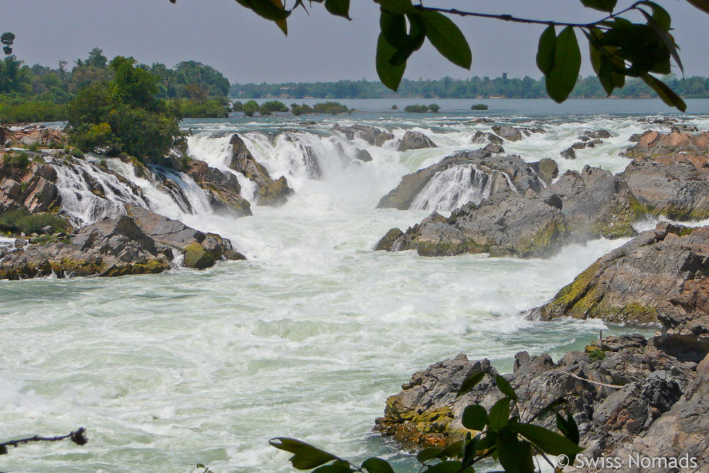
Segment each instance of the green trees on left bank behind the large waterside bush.
M26 65L13 54L15 35L4 33L5 57L0 61L0 123L67 119L67 104L79 91L111 82L116 69L99 48L69 68ZM179 115L223 117L229 112L229 81L213 67L184 61L170 69L164 64L137 64L156 77L153 98L171 102Z

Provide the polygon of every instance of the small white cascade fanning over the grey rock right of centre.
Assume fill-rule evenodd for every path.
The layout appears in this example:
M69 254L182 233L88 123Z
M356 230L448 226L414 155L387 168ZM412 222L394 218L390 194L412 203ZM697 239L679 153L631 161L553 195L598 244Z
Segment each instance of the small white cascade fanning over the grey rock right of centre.
M510 189L517 191L505 172L493 171L488 174L475 165L458 165L435 173L415 196L409 208L448 212L468 202L480 204L490 196L496 173L502 174Z

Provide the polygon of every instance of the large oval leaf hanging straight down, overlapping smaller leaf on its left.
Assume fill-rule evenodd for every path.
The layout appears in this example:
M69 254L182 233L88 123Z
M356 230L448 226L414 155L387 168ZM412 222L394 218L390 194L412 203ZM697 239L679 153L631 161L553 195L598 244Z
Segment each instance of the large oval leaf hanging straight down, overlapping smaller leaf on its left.
M581 51L574 28L567 26L557 36L554 48L554 67L546 74L547 92L561 104L576 86L581 70Z

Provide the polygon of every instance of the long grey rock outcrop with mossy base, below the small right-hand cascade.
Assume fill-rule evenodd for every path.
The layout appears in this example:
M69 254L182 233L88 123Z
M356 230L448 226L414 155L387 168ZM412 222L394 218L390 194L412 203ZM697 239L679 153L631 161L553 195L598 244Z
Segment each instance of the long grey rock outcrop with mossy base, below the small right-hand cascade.
M634 235L632 223L643 212L622 178L586 166L565 172L540 192L493 194L479 205L454 210L450 218L434 213L376 248L415 249L423 256L548 257L569 243Z

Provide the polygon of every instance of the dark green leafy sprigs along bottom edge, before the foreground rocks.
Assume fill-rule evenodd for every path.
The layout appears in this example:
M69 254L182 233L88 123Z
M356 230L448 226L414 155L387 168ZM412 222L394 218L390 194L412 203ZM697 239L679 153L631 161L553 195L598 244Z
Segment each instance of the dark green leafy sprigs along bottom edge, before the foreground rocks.
M563 398L555 400L525 422L516 404L517 394L500 375L493 377L488 372L474 373L462 382L458 396L474 389L485 377L493 378L505 397L497 401L489 412L477 404L467 406L463 411L462 423L464 427L477 431L477 435L473 437L469 432L464 440L445 448L421 450L416 455L416 460L422 465L420 472L474 473L473 465L476 462L490 458L497 460L507 473L534 473L536 455L565 455L571 460L570 464L574 463L574 457L582 450L579 447L579 428L570 413L562 416L559 412L565 402ZM554 411L557 416L560 433L532 423L550 411ZM313 473L394 471L389 462L381 458L369 458L362 462L361 467L357 467L356 464L293 438L274 438L269 443L280 450L294 453L290 461L296 469L314 469ZM552 467L555 465L552 464Z

